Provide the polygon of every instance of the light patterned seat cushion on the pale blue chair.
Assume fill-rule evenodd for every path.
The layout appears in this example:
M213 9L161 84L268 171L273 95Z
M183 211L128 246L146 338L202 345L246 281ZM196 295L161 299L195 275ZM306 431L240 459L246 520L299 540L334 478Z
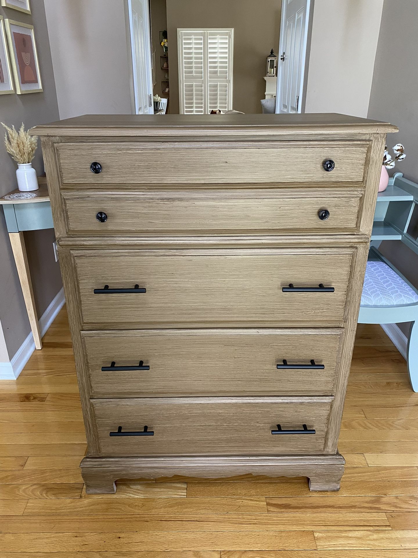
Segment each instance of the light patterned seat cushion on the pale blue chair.
M418 302L418 295L385 262L367 262L362 306L397 306Z

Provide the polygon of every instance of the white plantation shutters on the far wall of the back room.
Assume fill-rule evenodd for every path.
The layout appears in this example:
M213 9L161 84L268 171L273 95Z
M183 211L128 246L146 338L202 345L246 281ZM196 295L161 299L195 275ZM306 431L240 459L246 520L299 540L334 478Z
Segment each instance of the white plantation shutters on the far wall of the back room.
M181 114L232 109L233 29L178 29Z

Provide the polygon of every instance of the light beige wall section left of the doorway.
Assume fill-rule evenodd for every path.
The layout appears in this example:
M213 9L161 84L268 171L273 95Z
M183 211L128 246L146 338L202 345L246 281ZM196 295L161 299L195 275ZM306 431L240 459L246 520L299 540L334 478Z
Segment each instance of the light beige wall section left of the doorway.
M60 118L130 114L124 0L45 0Z

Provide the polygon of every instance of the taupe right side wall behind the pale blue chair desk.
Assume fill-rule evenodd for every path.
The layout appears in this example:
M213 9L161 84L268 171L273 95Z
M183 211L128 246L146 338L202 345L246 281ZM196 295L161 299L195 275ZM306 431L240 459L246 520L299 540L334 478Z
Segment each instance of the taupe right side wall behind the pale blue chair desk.
M368 117L396 124L389 147L403 143L407 156L393 172L418 182L418 2L385 0L373 71ZM381 251L418 287L418 256L401 242L382 242ZM400 325L406 333L407 325Z

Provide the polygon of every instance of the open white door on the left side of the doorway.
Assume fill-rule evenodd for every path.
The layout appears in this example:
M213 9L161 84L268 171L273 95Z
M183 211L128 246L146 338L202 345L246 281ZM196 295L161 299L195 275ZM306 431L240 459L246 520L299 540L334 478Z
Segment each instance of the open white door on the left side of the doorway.
M135 112L153 114L152 59L148 0L128 0Z

